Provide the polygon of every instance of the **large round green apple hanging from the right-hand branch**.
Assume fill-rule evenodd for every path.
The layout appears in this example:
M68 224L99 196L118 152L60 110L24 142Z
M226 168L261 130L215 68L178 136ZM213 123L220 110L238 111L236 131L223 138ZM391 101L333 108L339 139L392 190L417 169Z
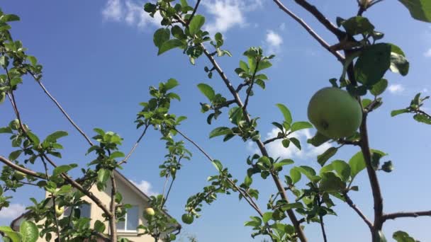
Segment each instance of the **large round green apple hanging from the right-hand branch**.
M354 134L361 125L362 108L347 91L322 88L308 103L308 119L321 134L340 139Z

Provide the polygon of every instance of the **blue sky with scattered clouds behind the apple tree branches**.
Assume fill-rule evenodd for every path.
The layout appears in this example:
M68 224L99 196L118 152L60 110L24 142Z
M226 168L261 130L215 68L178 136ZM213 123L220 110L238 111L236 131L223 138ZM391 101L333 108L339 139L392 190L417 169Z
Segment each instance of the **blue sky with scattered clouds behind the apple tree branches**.
M293 1L286 6L298 13L315 30L335 43L328 31ZM87 134L94 127L118 132L125 139L122 151L127 152L138 138L133 120L140 110L138 103L149 98L147 90L159 81L175 78L181 86L177 92L181 103L174 103L173 111L189 117L181 130L201 144L211 156L230 168L235 178L245 175L245 159L254 146L233 139L223 143L220 139L208 140L208 132L226 122L223 118L213 125L206 125L206 115L200 113L199 101L205 98L198 92L197 83L210 83L221 93L223 83L217 77L208 79L203 67L206 59L198 59L191 66L179 50L157 57L152 43L152 33L158 28L157 21L142 13L141 1L4 1L1 8L6 13L16 13L21 21L13 23L13 36L22 40L28 53L38 57L44 66L43 82L62 103ZM356 1L320 0L318 7L331 21L336 16L348 18L357 11ZM268 69L269 83L265 91L256 91L250 100L250 113L259 116L262 137L273 132L271 122L281 120L275 107L284 103L291 109L293 120L306 120L306 107L312 94L329 86L328 79L340 76L341 67L315 40L291 18L282 13L272 1L259 0L211 0L203 1L198 10L206 16L205 28L214 34L221 31L225 36L225 48L233 57L218 59L221 67L234 83L238 83L233 70L242 52L250 46L262 46L276 54L274 66ZM431 90L431 25L414 21L398 1L384 1L364 14L371 19L376 30L385 33L386 42L403 48L410 60L410 74L402 77L386 74L390 86L384 93L384 105L369 117L371 147L386 151L395 166L393 173L379 173L383 190L385 211L430 209L431 193L431 129L419 124L410 115L390 117L391 110L404 108L420 91ZM58 163L79 163L85 166L91 157L84 156L87 146L84 139L72 129L55 105L31 79L25 79L17 93L24 122L40 137L55 130L66 130L69 137L62 139L65 146L63 159ZM429 105L428 105L429 106ZM425 106L427 108L427 106ZM13 112L7 102L0 106L1 125L12 120ZM223 116L224 117L224 116ZM301 132L302 142L313 134ZM0 137L1 155L7 156L9 138ZM281 148L280 144L269 146L270 154L284 156L296 161L296 165L318 168L317 154L325 149L313 149L303 143L304 150ZM192 161L185 163L174 184L172 197L167 204L170 214L180 218L186 199L208 185L206 178L215 169L194 147ZM334 159L344 159L357 149L343 149ZM123 173L147 193L161 192L164 180L158 176L162 163L164 143L157 132L148 132L138 150L124 166ZM365 173L355 181L359 192L352 199L369 217L372 215L372 197ZM266 207L269 195L275 191L271 180L254 178L254 185L261 190L259 204ZM11 209L0 212L0 224L9 224L13 217L29 205L29 197L42 198L43 190L22 188L14 194ZM369 231L362 220L347 207L337 203L339 216L326 217L329 241L367 241ZM252 241L250 229L242 226L254 215L245 202L238 202L236 195L219 197L211 207L204 206L203 216L192 226L184 226L186 235L195 235L198 241ZM420 241L431 241L430 218L398 219L384 226L387 237L393 231L408 231ZM310 241L321 241L318 224L306 228ZM257 238L255 241L261 241ZM184 240L186 241L186 240Z

